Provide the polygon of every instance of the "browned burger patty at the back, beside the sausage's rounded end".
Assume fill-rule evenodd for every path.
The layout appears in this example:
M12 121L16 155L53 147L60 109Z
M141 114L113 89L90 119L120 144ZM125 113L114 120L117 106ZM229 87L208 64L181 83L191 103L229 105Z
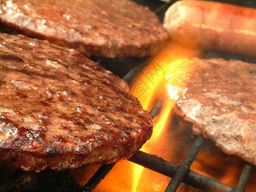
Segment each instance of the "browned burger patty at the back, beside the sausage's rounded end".
M128 0L2 0L0 21L87 56L148 56L169 38L155 13Z

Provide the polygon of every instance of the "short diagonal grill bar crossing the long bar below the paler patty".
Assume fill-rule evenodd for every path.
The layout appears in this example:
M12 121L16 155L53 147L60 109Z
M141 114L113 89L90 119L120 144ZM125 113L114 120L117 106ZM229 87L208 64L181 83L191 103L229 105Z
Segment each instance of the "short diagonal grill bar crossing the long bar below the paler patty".
M198 152L200 152L200 148L201 148L201 145L203 145L203 141L204 141L204 139L203 139L202 135L200 135L200 136L198 136L198 138L196 138L192 147L187 152L187 156L183 160L182 164L180 164L180 166L178 166L178 170L177 170L175 176L173 177L171 182L169 182L169 184L166 188L166 192L173 192L173 191L176 191L176 189L178 189L178 186L180 186L180 183L182 182L183 178L185 177L187 172L190 170L190 166L191 166L192 162L196 158Z

